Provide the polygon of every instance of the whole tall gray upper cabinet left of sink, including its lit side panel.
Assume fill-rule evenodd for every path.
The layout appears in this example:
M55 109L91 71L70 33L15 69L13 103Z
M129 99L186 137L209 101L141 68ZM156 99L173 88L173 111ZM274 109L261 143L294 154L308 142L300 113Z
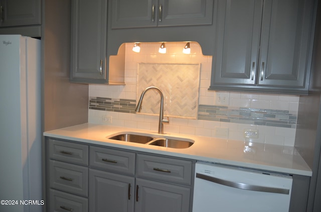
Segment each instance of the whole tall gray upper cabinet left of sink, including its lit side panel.
M124 84L124 46L107 55L107 0L72 0L72 82Z

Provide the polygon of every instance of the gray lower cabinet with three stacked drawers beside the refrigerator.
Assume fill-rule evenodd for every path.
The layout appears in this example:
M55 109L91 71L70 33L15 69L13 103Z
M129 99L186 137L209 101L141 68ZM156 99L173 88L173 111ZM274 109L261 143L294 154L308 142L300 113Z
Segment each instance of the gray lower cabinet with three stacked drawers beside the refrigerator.
M88 212L89 146L46 137L47 211Z

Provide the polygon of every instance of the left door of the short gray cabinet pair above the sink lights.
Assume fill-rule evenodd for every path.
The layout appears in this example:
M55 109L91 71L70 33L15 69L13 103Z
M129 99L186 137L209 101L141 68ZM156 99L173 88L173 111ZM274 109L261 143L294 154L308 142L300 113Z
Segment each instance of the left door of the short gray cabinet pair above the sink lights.
M157 25L157 0L112 0L112 28Z

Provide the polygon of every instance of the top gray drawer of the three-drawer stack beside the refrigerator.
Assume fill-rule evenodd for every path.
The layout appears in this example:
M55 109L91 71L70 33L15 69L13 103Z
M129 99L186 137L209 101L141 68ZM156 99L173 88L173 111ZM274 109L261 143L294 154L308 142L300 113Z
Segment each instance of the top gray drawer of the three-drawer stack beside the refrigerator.
M51 159L88 165L88 145L49 138L49 157Z

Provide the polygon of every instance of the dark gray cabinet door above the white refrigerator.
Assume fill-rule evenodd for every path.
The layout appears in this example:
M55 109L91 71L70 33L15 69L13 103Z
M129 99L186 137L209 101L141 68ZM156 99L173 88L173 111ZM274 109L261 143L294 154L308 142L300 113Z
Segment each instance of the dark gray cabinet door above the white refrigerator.
M0 0L0 26L41 23L41 0Z

